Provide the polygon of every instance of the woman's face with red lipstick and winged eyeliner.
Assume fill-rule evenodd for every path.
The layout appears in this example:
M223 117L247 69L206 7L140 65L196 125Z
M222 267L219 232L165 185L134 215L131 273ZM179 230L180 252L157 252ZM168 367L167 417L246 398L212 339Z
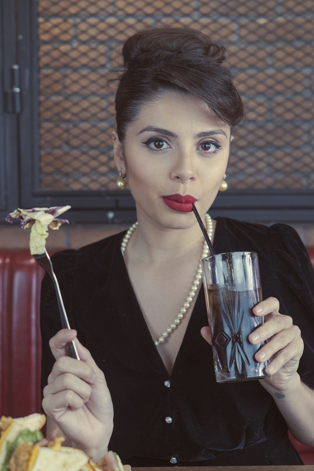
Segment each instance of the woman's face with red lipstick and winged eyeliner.
M115 140L117 167L137 207L137 218L168 228L195 223L192 201L201 216L213 203L225 173L230 126L218 120L200 98L165 92L143 106Z

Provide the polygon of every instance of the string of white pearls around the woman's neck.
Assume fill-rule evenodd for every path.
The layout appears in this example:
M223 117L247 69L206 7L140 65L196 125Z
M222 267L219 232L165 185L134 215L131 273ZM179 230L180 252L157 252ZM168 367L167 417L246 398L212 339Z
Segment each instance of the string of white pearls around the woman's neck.
M211 220L211 217L209 216L209 214L205 214L205 219L206 219L206 230L207 230L207 233L209 235L209 239L211 239L211 237L213 235L213 221ZM129 228L126 235L123 237L122 242L121 242L122 255L124 255L124 252L127 248L127 245L129 244L130 237L133 234L133 232L135 231L135 229L137 228L137 226L138 226L138 222L135 222ZM202 251L202 254L201 254L201 260L205 257L208 257L208 254L209 254L209 248L208 248L208 245L207 245L206 241L204 241L203 251ZM200 262L201 262L201 260L200 260ZM194 278L194 281L193 281L193 284L192 284L190 292L189 292L189 295L186 297L182 308L179 310L179 312L177 314L177 317L174 319L174 321L170 325L170 327L168 327L168 329L166 329L165 332L162 333L162 335L158 338L158 340L155 340L156 347L160 343L163 343L165 341L165 339L169 336L169 334L174 331L174 329L177 327L177 325L180 324L181 319L185 315L187 309L189 309L189 307L190 307L190 303L192 302L192 298L195 296L195 292L198 289L201 277L202 277L201 276L201 263L199 263L197 271L196 271L196 275L195 275L195 278Z

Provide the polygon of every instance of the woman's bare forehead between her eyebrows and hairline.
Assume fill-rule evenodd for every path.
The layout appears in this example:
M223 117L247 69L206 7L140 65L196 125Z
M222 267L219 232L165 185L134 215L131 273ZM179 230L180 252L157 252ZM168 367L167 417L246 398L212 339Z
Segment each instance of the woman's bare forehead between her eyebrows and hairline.
M146 126L156 126L175 131L177 134L196 133L201 130L220 128L230 135L230 126L201 100L190 94L175 91L162 93L144 104L128 130L139 132ZM127 132L128 133L128 132Z

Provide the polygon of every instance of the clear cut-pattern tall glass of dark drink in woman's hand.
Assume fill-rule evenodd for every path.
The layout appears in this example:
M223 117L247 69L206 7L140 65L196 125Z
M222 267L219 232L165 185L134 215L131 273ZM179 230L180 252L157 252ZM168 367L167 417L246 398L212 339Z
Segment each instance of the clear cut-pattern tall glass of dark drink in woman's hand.
M264 317L252 308L262 300L255 252L226 252L202 260L202 275L212 337L217 382L266 378L269 361L254 355L264 342L253 345L248 337Z

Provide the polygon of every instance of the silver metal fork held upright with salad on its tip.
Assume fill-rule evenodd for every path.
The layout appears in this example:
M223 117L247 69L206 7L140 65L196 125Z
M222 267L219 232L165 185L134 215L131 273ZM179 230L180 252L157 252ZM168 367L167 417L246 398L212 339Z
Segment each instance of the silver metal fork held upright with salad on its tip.
M59 283L58 283L58 280L56 279L55 272L53 271L52 263L51 263L51 260L50 260L50 257L48 255L46 248L45 248L44 253L40 253L39 255L34 255L34 259L37 261L38 265L40 265L41 268L46 270L48 275L51 276L51 279L53 281L53 284L56 290L56 299L58 301L62 328L70 329L71 327L69 325L69 320L64 309L64 304L63 304L63 299L62 299L60 288L59 288ZM73 340L72 342L69 342L66 344L66 349L67 349L69 357L76 358L77 360L80 359L79 354L76 349L76 345Z

